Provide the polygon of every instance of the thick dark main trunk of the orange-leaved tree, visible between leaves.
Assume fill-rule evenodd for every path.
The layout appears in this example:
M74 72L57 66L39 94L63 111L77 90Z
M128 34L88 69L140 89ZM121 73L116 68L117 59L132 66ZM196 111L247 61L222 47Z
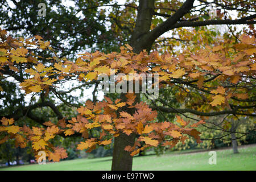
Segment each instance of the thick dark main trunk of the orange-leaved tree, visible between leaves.
M131 36L130 45L135 53L141 52L143 49L150 51L152 44L142 42L142 37L150 31L152 16L154 15L155 1L154 0L139 0L137 19L133 35ZM128 88L128 87L127 87ZM136 102L139 102L139 94L137 94ZM125 99L125 94L121 94L121 98ZM122 108L129 114L134 114L134 108ZM125 151L126 146L133 146L135 134L120 134L114 139L114 151L112 158L112 171L131 171L133 167L133 157L129 152Z

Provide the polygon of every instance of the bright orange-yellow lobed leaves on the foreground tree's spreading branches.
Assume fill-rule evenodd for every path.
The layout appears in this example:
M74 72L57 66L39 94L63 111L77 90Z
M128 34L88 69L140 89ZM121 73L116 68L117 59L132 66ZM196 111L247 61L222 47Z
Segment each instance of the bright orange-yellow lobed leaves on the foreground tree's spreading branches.
M161 86L174 85L173 81L196 81L197 89L208 88L216 85L218 82L228 82L229 84L240 84L242 76L255 75L256 63L253 56L256 53L255 39L249 36L242 36L242 42L233 47L215 46L213 48L206 47L196 53L185 52L177 57L172 57L166 53L159 55L158 52L152 52L150 55L146 51L139 54L133 52L133 48L126 44L121 47L121 52L112 52L105 54L102 52L83 53L74 62L67 59L59 59L57 56L48 57L52 61L51 65L44 65L38 55L33 53L34 49L54 50L49 42L44 42L40 36L26 39L13 39L6 36L6 31L1 30L0 36L0 69L6 65L14 72L19 72L16 65L34 64L31 68L23 70L30 77L20 83L22 89L26 93L41 92L46 90L49 92L50 86L63 79L76 76L80 81L94 81L97 76L104 73L110 76L110 68L115 69L115 73L158 73ZM36 48L35 48L36 47ZM235 51L238 50L238 53ZM232 56L229 56L230 52ZM55 54L56 55L56 54ZM205 82L209 76L216 76L212 82ZM50 78L55 76L55 78ZM208 107L210 110L213 106L230 107L228 100L231 97L240 99L249 98L246 89L233 89L232 87L224 88L218 85L217 88L209 89L207 97ZM0 88L1 91L4 91ZM200 95L200 94L199 94ZM27 126L15 126L13 119L2 118L2 126L0 132L8 135L0 140L5 142L8 138L15 138L16 145L25 147L28 141L32 142L32 148L36 152L44 150L49 159L59 161L66 158L67 154L63 148L52 146L50 140L57 134L74 135L80 133L85 139L84 142L78 144L77 149L88 152L96 148L96 145L107 145L112 143L113 137L119 134L131 133L138 134L140 137L135 141L134 146L127 146L126 151L131 155L138 154L140 150L150 146L175 146L177 142L183 142L191 135L197 142L201 142L200 133L195 129L198 125L204 123L203 120L193 123L189 126L189 122L184 121L177 116L177 124L164 121L155 122L157 112L143 102L136 103L134 94L127 94L127 101L115 101L105 97L105 101L93 102L87 101L85 106L77 109L79 113L77 117L68 120L61 119L57 124L46 122L47 128ZM212 107L210 107L212 106ZM119 111L122 107L135 108L134 114L126 111ZM94 128L101 129L99 138L89 138L89 131ZM144 143L143 147L140 147Z

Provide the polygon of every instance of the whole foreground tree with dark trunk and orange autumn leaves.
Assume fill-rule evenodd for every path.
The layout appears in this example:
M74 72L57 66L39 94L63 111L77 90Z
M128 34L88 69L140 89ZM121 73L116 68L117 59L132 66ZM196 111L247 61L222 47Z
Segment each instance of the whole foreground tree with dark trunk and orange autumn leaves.
M61 121L59 125L51 122L46 123L46 126L48 126L46 130L36 129L34 127L31 131L27 127L23 128L23 131L26 132L26 137L30 138L31 135L34 137L33 142L37 146L34 148L35 150L46 149L47 146L50 146L48 140L39 139L41 138L40 135L44 134L44 138L46 138L46 133L48 132L47 139L50 139L55 134L64 133L67 136L73 135L75 131L79 133L82 127L77 125L82 122L85 124L89 118L90 122L86 123L86 129L84 130L90 131L94 127L101 127L103 134L100 140L86 140L79 145L79 148L89 148L90 151L95 147L95 144L110 143L111 139L108 136L108 139L101 140L106 137L104 136L106 131L115 137L112 169L131 170L132 157L130 154L137 154L140 150L148 146L156 146L160 143L172 146L178 140L184 140L184 134L192 135L197 139L197 142L200 142L200 133L193 129L193 127L204 124L204 121L199 120L197 123L193 123L191 129L186 127L188 126L188 122L185 122L179 116L177 117L179 126L169 122L154 123L150 122L154 121L156 117L156 112L153 110L158 110L159 113L181 114L192 120L196 119L188 117L185 113L200 115L203 119L207 119L204 117L221 114L230 114L234 118L236 118L236 115L254 117L255 106L252 103L255 101L255 63L253 61L255 38L251 24L255 23L253 19L255 19L256 15L250 15L250 13L254 13L255 11L253 9L254 7L251 6L252 2L216 2L216 6L224 10L224 14L218 15L216 19L209 19L209 16L205 15L207 13L206 7L209 4L208 2L200 1L200 5L196 6L193 6L193 4L194 1L189 0L184 3L179 1L172 1L170 3L141 0L138 2L138 7L134 4L127 4L125 5L126 9L122 11L124 13L122 17L136 17L135 26L133 28L133 23L131 23L130 27L129 23L119 24L119 20L117 19L118 14L116 14L114 19L116 20L115 23L119 24L119 29L114 29L114 32L120 36L122 32L118 30L131 30L129 42L131 47L127 45L127 48L121 47L121 53L112 52L107 55L100 52L85 53L75 63L68 61L64 57L58 57L56 52L52 52L49 42L43 42L40 36L35 36L37 40L31 43L29 40L7 38L6 32L1 31L1 55L3 57L1 61L3 69L1 72L22 82L20 86L26 90L26 93L41 93L42 91L42 102L24 107L22 111L18 110L14 114L3 115L5 118L1 120L3 123L1 130L13 135L12 137L20 136L17 134L20 128L13 125L13 120L6 118L14 118L16 121L20 117L27 115L39 123L45 123L46 121L43 118L32 114L31 110L38 107L51 107L57 118ZM98 6L119 7L117 4ZM98 6L93 6L92 9ZM198 9L199 7L200 9ZM137 10L137 14L134 16L135 11L129 11L128 9ZM156 9L160 9L160 13L155 11ZM243 14L238 13L238 19L232 20L230 17L227 17L226 10L236 10ZM166 19L161 18L155 20L153 19L155 15L162 16ZM113 14L110 14L110 16L113 16ZM184 49L182 54L179 55L170 55L168 53L159 55L158 52L151 52L150 55L147 55L156 39L165 32L174 30L175 28L200 27L209 24L250 24L251 29L247 31L247 34L253 37L243 35L240 37L241 43L235 44L230 40L225 40L220 45L209 45L202 50L200 50L201 47L199 45L194 50L189 48ZM46 59L44 57L33 57L30 52L35 52L35 50L28 50L28 44L38 46L36 52L39 49L48 48L48 51L52 52L52 55L55 56L47 56L45 57ZM146 52L143 52L143 49L146 49ZM28 56L28 53L30 56ZM43 64L46 63L46 60L51 65ZM60 62L61 60L63 62ZM117 63L114 60L117 60ZM26 70L23 64L26 65ZM64 67L64 65L67 66ZM103 102L93 100L91 103L88 101L85 107L75 103L72 97L67 97L68 93L80 89L83 86L95 85L95 88L97 88L99 82L96 80L96 75L106 73L110 76L110 68L115 68L120 73L134 71L137 73L158 73L160 75L159 82L161 86L172 86L180 91L183 90L177 97L179 98L179 102L183 103L185 109L170 107L170 105L162 100L152 100L152 105L149 107L139 101L141 96L138 93L134 95L121 93L118 100L119 103L116 100L114 104L108 98L105 98L106 101ZM27 75L30 75L30 77L25 77ZM71 80L74 77L83 84L68 91L56 90L52 86ZM78 118L69 118L67 119L67 122L69 122L68 125L65 124L66 121L55 104L48 101L47 97L53 96L59 98L68 106L78 107L80 113L77 116ZM102 106L108 111L104 111L106 114L103 114L104 116L102 118L100 116L97 117L96 115L100 114L98 108L102 108ZM92 113L92 111L96 111L97 113ZM135 116L142 117L142 115L146 121L139 122L138 119L134 118ZM83 119L84 117L87 119ZM114 119L114 122L111 122L113 124L108 123L110 121L109 117L110 119ZM97 123L96 118L103 119L98 120L102 121L102 123L100 122L101 125ZM90 124L92 120L94 125ZM117 126L115 125L120 120L134 123L130 126L130 130L127 131L127 128L129 128L127 125L116 128ZM75 128L73 129L73 127ZM82 135L88 138L89 134L84 130L81 133L84 132ZM142 136L135 140L135 133ZM24 143L24 140L21 143ZM138 150L137 147L141 143L145 143L146 145ZM51 151L47 151L47 154L50 155L49 158L60 159L65 157L65 152L61 148L51 148Z

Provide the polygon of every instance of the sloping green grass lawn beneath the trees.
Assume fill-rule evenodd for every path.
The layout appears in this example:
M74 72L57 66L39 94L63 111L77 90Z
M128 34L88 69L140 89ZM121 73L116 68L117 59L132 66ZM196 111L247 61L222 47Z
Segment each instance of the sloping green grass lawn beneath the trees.
M209 151L189 154L168 153L160 156L135 157L133 170L256 170L256 146L239 148L239 154L232 149L217 150L217 164L208 164ZM5 167L0 170L110 170L111 157L97 159L75 159L46 165L31 164L18 167Z

